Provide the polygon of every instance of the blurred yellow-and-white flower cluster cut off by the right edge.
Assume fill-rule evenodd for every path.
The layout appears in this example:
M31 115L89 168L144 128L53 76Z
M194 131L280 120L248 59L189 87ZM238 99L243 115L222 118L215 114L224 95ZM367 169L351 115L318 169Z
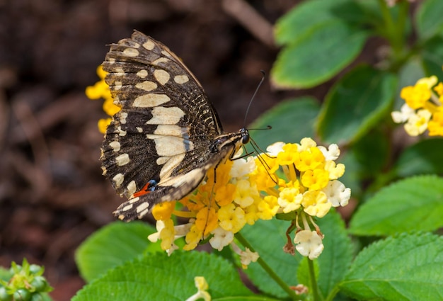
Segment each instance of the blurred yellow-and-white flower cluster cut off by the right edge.
M395 123L405 123L408 135L418 136L429 130L430 136L443 136L443 83L437 81L437 76L425 77L401 89L405 104L391 116Z

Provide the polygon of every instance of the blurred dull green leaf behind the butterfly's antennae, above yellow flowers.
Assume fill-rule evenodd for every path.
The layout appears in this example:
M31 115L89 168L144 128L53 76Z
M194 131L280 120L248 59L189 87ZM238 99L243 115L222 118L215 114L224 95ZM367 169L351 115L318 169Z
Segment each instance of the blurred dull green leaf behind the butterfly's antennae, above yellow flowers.
M304 137L313 137L313 124L320 106L311 97L294 98L283 101L277 106L260 115L251 128L266 128L271 130L253 131L251 136L260 147L267 147L274 142L300 142Z

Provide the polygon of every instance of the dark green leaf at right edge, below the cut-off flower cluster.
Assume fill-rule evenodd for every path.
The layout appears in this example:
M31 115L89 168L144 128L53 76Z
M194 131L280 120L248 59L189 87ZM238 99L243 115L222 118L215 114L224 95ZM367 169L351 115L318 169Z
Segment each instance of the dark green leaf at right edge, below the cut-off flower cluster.
M397 176L443 174L443 139L423 140L405 149L394 166Z

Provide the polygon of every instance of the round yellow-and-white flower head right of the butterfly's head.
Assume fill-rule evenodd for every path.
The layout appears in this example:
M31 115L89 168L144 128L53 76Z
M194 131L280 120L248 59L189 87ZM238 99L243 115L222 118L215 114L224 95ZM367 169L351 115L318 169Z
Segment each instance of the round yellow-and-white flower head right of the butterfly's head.
M323 217L331 207L347 205L350 189L337 180L345 173L345 166L335 164L340 155L336 144L326 149L304 138L301 144L277 142L267 151L269 157L257 158L265 162L257 164L253 181L265 192L268 202L279 205L279 212L303 210ZM279 178L277 171L283 171L284 178Z

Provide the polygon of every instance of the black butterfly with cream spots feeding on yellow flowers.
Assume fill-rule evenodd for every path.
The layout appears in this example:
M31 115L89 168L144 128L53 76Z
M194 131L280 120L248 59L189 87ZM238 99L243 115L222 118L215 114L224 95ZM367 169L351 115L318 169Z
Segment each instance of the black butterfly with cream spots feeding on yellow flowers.
M114 214L142 218L180 200L207 171L249 142L246 128L224 133L200 82L161 42L134 30L110 45L103 62L114 103L101 150L103 174L128 200Z

